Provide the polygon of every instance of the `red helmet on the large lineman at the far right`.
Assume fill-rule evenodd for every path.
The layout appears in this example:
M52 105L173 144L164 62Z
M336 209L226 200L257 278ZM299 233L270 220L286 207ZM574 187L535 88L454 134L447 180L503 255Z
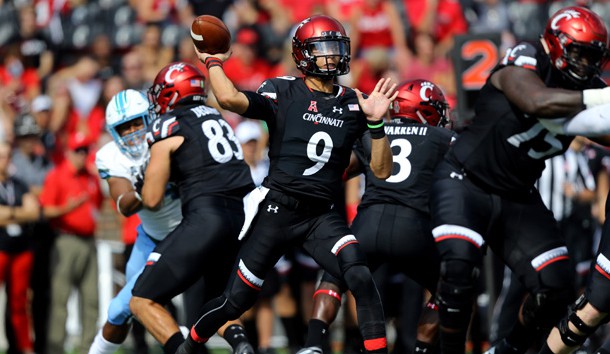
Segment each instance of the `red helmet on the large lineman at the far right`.
M608 60L606 25L584 7L570 6L557 11L549 18L542 39L553 66L579 84L599 75Z

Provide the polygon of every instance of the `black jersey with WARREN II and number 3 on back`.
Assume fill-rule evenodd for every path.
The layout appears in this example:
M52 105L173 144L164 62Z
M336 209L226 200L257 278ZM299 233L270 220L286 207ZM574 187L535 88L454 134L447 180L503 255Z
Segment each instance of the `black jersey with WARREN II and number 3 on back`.
M366 177L360 205L400 204L428 214L432 173L449 150L455 133L404 118L392 119L385 125L385 132L390 139L393 160L392 175L386 180L376 178L369 166L369 134L356 143L354 151Z

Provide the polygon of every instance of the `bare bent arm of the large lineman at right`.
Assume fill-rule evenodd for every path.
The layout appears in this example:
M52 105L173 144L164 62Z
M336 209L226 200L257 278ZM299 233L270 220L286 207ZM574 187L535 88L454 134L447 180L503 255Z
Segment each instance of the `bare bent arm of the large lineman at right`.
M491 76L492 85L523 113L543 118L562 118L583 108L582 91L549 88L529 69L506 66Z

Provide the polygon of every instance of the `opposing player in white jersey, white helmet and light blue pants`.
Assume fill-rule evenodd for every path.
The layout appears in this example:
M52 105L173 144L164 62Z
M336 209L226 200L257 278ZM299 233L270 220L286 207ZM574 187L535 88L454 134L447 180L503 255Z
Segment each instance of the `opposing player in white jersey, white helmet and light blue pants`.
M112 97L106 107L106 129L113 141L97 152L95 164L100 177L108 182L118 212L124 216L137 213L141 224L127 262L127 284L112 299L108 319L95 337L89 354L114 353L125 341L132 317L129 310L131 289L156 244L182 220L180 200L173 188L168 187L163 206L157 211L142 208L141 198L134 189L137 175L148 156L144 137L150 122L148 107L146 96L131 89Z

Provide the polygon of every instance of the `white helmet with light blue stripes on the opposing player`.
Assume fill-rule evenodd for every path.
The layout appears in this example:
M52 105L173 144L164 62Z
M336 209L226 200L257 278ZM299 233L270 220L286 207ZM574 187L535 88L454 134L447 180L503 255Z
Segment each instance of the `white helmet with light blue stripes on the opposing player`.
M150 123L149 106L146 95L132 89L117 93L106 106L106 129L121 152L136 159L144 156L147 151L145 135ZM135 119L142 119L144 127L121 136L117 127Z

